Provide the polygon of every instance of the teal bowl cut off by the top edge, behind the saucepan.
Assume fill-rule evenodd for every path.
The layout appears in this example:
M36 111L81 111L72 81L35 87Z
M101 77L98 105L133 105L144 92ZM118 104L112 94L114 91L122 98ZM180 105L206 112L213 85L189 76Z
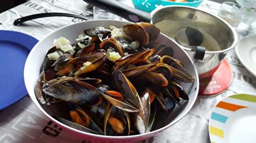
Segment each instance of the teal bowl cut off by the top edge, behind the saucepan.
M159 6L189 6L189 7L198 7L203 0L188 0L185 3L172 2L167 0L132 0L133 5L136 9L152 12Z

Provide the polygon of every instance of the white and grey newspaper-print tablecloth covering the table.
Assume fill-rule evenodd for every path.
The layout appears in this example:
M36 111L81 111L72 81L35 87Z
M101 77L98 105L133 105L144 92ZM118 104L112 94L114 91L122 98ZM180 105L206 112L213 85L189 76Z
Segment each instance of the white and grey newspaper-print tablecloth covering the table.
M131 1L121 2L131 6ZM220 4L203 1L200 9L216 14ZM65 12L81 14L92 19L92 11L83 1L31 0L0 14L0 30L12 30L29 34L38 40L59 27L81 21L77 18L51 17L28 21L20 26L12 23L16 18L35 13ZM256 33L256 22L247 31L248 35ZM230 87L216 97L199 97L193 108L177 124L163 133L144 142L154 143L205 143L210 142L208 135L209 116L214 106L224 97L236 93L256 93L254 78L239 62L234 50L226 56L233 70ZM0 142L62 142L86 143L80 138L72 138L65 130L49 121L27 96L17 103L0 111Z

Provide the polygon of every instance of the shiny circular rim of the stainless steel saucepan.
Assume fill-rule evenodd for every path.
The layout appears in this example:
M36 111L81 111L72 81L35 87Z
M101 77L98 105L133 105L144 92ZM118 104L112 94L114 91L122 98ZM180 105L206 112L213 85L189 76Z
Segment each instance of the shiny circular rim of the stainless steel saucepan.
M162 0L161 0L161 1L162 1ZM203 0L202 0L202 1L203 1ZM238 34L237 34L237 32L234 30L234 28L233 28L228 22L226 22L223 18L221 18L221 17L219 17L219 16L217 16L217 15L211 14L211 13L205 11L205 10L200 10L200 9L198 9L198 8L195 8L195 7L189 7L189 6L175 6L175 5L158 7L158 8L156 8L155 10L153 10L153 11L151 12L151 15L152 15L152 17L154 17L154 15L155 15L158 11L163 10L163 9L168 9L168 8L187 8L187 9L194 9L194 10L196 10L196 11L203 12L203 13L205 13L205 14L208 14L208 15L210 15L210 16L212 16L212 17L215 17L215 18L219 19L221 22L223 22L223 23L230 29L231 33L232 33L233 36L234 36L234 40L233 40L232 44L231 44L228 48L223 49L223 50L220 50L220 51L205 51L205 53L223 53L223 52L227 52L227 51L233 49L234 47L236 47L236 45L237 45L237 43L238 43ZM152 20L151 20L151 23L153 23ZM175 40L173 40L173 41L175 41ZM175 41L175 42L176 42L176 41ZM180 46L181 46L181 45L180 45ZM181 47L182 47L183 49L185 49L186 51L191 51L190 48L186 48L186 47L184 47L184 46L181 46Z

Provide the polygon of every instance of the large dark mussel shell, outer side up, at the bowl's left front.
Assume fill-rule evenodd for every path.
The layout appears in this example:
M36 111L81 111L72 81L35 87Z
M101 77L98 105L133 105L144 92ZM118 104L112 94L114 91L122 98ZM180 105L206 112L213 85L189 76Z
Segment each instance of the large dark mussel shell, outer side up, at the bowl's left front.
M42 91L52 97L87 106L96 105L102 96L92 85L79 80L68 79L45 86Z

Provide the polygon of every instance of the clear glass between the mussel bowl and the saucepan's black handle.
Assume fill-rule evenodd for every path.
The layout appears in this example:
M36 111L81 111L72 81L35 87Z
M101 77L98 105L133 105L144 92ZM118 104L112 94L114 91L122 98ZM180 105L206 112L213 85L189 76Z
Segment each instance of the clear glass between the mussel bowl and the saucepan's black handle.
M122 20L121 17L110 13L108 11L93 7L93 19L112 19L112 20Z

